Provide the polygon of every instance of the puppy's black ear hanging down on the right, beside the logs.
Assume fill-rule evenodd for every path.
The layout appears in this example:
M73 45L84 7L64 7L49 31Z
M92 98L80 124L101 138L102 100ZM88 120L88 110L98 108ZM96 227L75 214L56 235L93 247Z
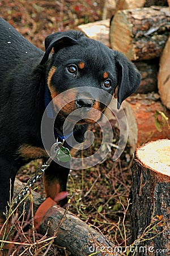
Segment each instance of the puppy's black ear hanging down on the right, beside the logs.
M141 75L121 52L117 52L115 59L118 69L117 108L120 109L122 101L137 90Z

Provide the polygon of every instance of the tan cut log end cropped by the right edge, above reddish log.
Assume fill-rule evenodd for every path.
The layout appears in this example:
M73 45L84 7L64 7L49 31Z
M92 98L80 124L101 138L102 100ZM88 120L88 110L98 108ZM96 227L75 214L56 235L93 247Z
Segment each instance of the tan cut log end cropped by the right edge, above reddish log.
M170 37L160 57L158 89L163 104L170 109Z

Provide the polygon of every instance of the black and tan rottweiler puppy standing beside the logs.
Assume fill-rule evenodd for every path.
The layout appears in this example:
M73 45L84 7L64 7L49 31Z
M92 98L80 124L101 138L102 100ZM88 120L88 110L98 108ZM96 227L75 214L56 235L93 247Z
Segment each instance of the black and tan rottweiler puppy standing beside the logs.
M54 125L58 134L62 134L65 118L73 110L86 108L86 118L74 127L75 141L83 142L88 124L100 118L100 114L92 118L91 110L102 113L105 109L105 105L100 104L104 92L113 96L118 87L119 108L138 88L141 76L122 53L79 31L47 36L43 52L0 18L0 46L0 213L3 222L10 191L13 195L16 172L30 160L48 158L41 138L41 119L48 103L54 100L54 111L64 105ZM100 93L94 99L91 93L75 90L74 100L69 102L73 93L69 95L67 90L80 86L99 88ZM64 97L62 94L58 98L63 92L66 92ZM74 152L66 142L64 146ZM53 200L60 198L61 206L67 199L57 195L66 191L68 174L69 168L55 161L45 171L46 196Z

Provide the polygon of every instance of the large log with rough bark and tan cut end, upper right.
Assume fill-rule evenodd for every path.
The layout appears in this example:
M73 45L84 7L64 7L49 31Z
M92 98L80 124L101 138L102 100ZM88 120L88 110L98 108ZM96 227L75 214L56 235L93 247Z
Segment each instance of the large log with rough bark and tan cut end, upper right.
M129 60L159 57L169 36L169 7L117 11L111 23L111 47Z

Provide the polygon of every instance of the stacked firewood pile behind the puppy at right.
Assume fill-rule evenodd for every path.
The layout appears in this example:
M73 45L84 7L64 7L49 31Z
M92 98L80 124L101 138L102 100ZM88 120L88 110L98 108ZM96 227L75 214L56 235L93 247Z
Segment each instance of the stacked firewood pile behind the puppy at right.
M170 0L106 0L106 19L79 26L90 38L124 53L141 73L136 94L128 98L137 119L138 146L170 138L166 119L170 117L168 4Z

